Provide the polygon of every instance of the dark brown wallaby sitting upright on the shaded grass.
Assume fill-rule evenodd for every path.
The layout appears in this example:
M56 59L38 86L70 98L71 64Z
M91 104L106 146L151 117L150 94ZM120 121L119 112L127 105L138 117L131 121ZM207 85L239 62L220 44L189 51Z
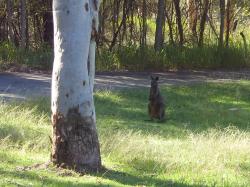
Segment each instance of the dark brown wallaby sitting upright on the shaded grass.
M162 121L165 116L165 104L158 87L159 77L151 76L151 88L149 93L148 114L153 120L154 118Z

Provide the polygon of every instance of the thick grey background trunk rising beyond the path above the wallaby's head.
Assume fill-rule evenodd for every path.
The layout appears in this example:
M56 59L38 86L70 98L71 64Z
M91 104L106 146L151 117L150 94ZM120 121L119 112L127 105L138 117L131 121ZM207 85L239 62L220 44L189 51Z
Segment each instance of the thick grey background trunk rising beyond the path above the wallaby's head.
M165 0L158 0L158 12L156 19L156 32L155 32L155 50L159 51L162 48L164 41L164 23L165 23Z

